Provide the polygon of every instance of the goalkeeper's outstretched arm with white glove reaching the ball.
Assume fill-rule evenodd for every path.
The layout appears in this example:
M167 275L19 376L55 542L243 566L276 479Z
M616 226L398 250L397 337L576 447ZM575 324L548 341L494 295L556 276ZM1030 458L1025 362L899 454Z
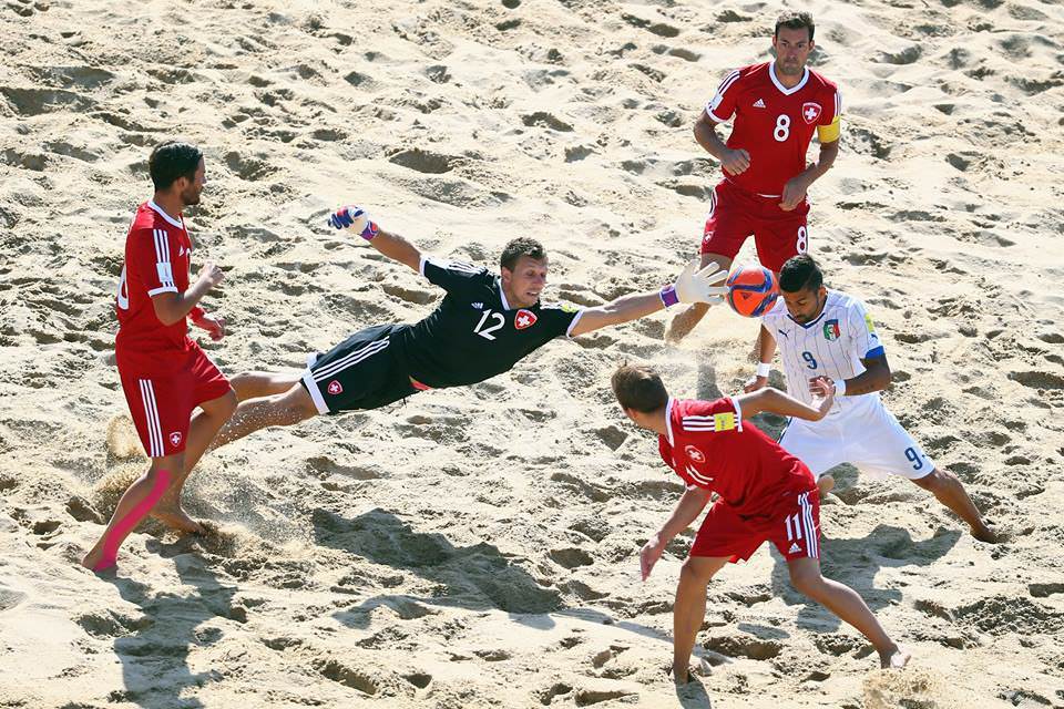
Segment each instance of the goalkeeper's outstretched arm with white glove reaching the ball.
M672 286L661 290L621 296L610 302L586 308L580 316L571 336L586 335L610 325L618 325L636 320L652 312L664 310L677 302L717 304L727 292L724 286L716 286L728 277L728 271L717 270L716 264L710 264L699 270L698 259L692 260Z

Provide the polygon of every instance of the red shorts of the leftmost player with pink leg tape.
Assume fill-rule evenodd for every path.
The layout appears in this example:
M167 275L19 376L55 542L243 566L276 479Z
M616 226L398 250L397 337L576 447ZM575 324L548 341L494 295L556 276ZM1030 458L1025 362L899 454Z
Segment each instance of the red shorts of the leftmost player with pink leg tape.
M196 345L188 359L167 373L125 371L119 366L122 390L149 458L185 450L192 410L225 395L229 381Z

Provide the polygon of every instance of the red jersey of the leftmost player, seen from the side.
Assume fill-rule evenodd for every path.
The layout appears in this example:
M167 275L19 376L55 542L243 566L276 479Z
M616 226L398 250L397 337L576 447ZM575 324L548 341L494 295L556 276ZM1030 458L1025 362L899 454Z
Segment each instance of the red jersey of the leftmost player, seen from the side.
M194 343L185 319L173 325L160 322L152 296L182 294L188 288L191 256L192 240L180 215L174 219L152 201L137 207L125 237L125 265L115 307L115 358L120 368L163 372L187 361Z

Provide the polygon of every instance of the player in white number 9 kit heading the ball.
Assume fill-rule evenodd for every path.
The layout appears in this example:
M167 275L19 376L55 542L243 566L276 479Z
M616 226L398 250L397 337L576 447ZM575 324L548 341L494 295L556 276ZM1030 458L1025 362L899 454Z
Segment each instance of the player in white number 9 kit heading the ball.
M777 343L790 395L808 403L814 399L810 382L835 383L836 403L825 419L791 419L779 438L779 444L817 476L820 494L835 486L825 473L840 463L873 475L907 477L934 493L969 524L976 540L998 542L956 475L937 467L883 407L879 392L890 384L890 366L864 305L828 290L823 273L807 254L784 264L779 289L782 297L761 318L760 364L746 391L768 382Z

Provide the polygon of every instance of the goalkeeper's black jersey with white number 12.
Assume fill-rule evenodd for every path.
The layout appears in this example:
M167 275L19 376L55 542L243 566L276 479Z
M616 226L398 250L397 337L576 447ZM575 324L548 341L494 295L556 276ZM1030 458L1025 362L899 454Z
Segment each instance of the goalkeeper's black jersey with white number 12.
M532 350L569 335L580 318L573 306L511 308L500 277L480 266L426 258L421 273L447 296L429 317L390 339L410 377L433 389L509 371Z

